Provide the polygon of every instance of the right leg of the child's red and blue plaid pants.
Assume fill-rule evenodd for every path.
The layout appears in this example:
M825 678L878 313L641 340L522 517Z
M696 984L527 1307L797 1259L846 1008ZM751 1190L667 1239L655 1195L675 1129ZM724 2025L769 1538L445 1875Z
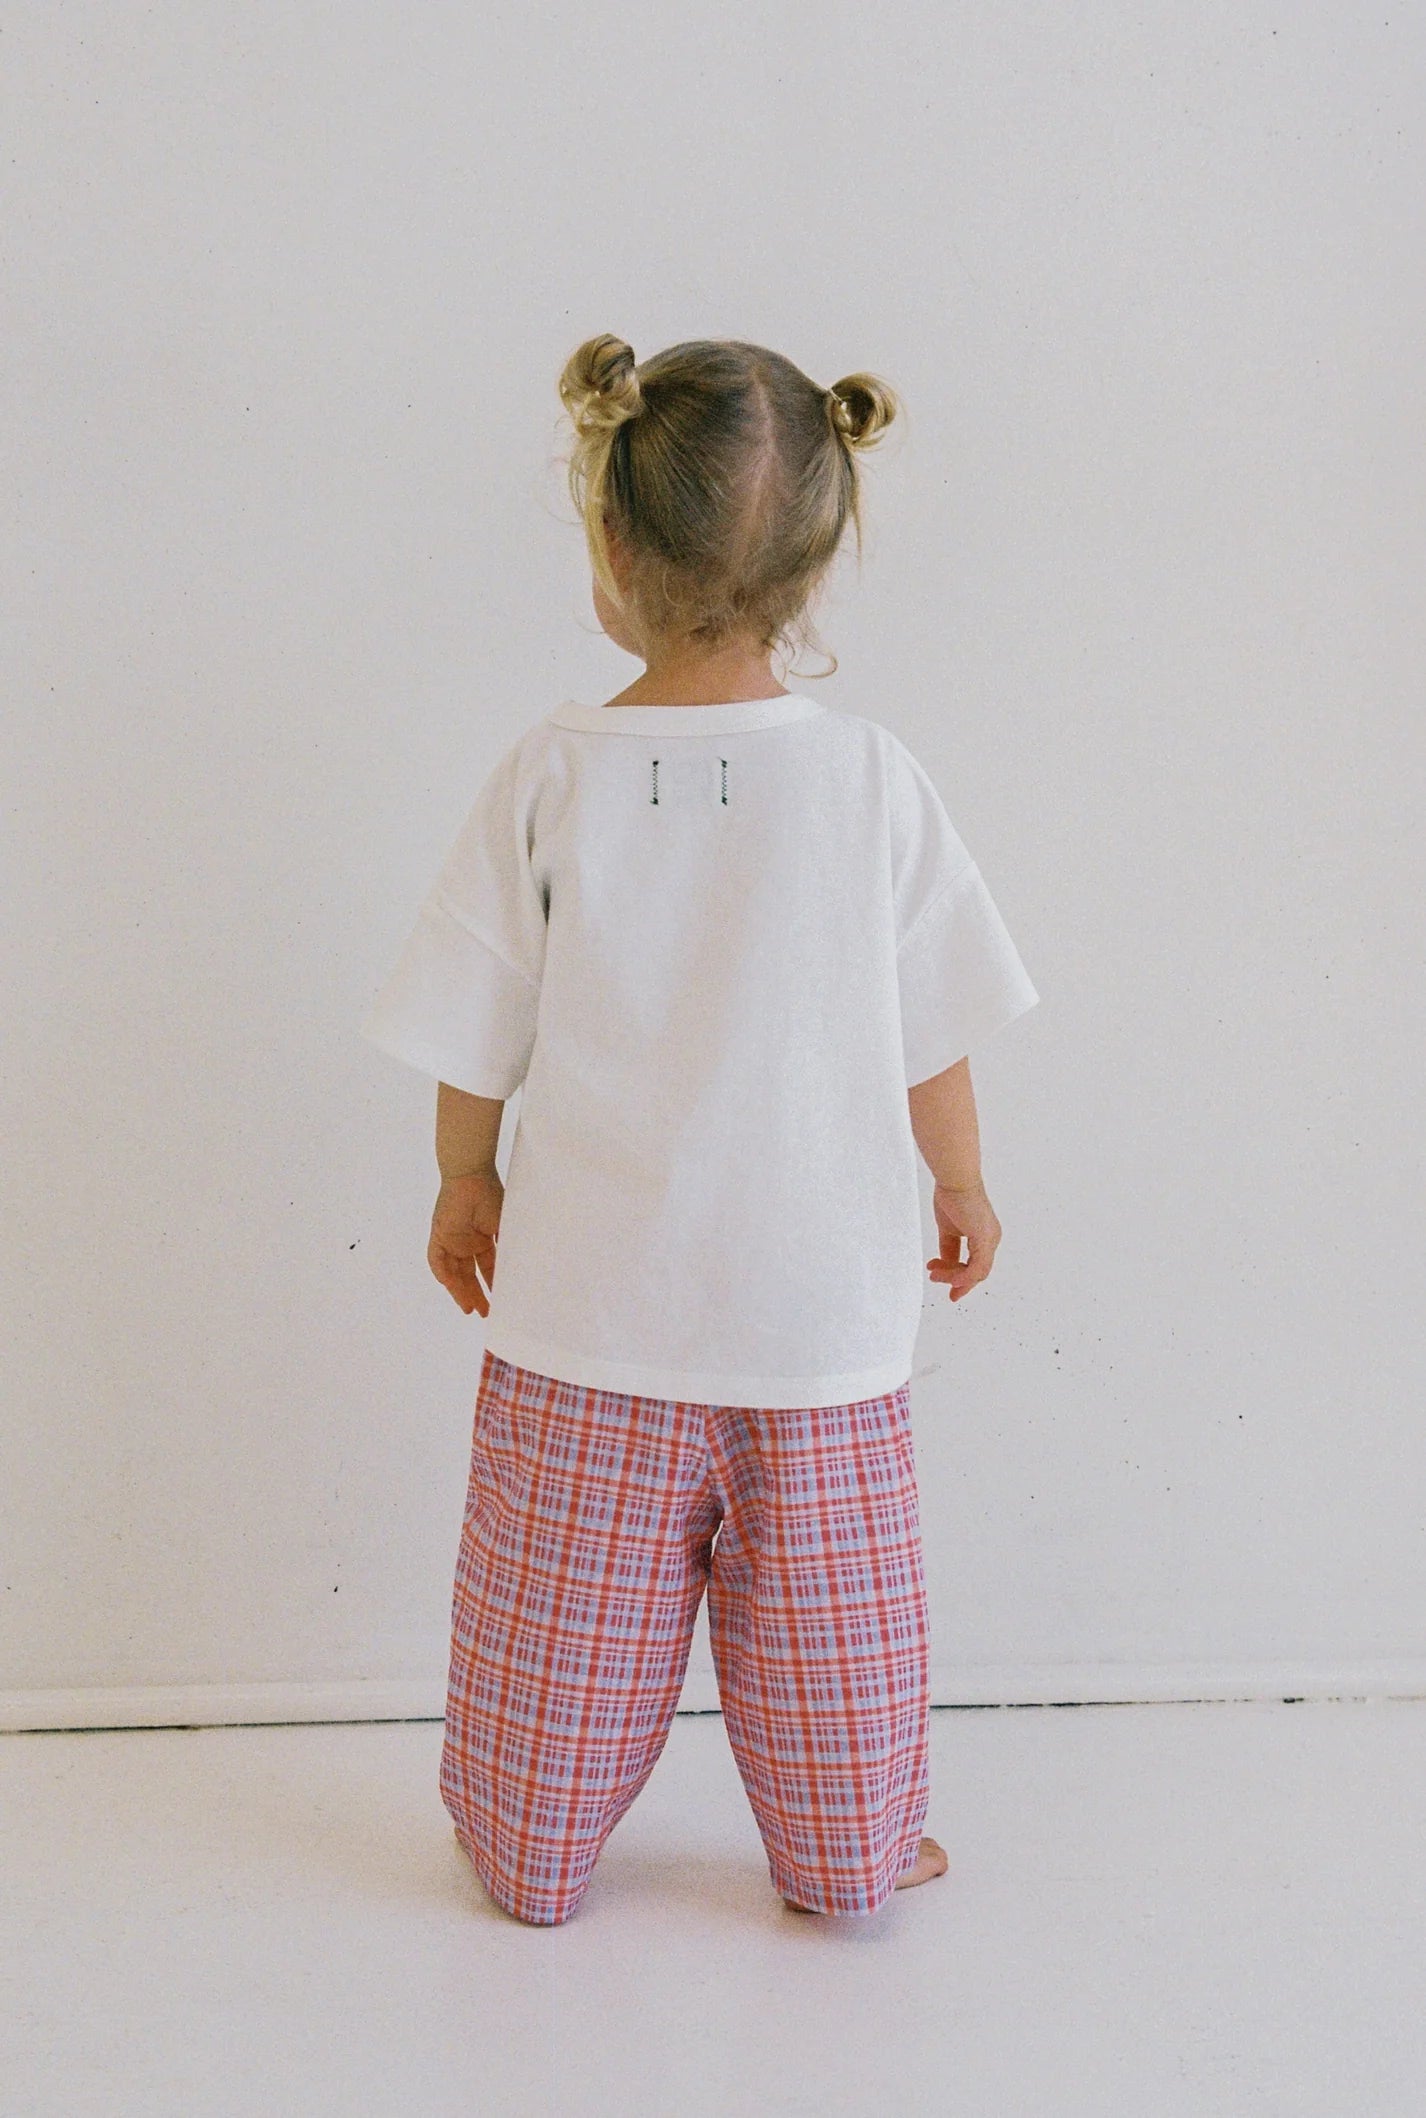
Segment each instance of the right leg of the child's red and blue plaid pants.
M930 1796L930 1646L911 1385L856 1404L710 1411L725 1506L708 1625L776 1889L873 1913Z

